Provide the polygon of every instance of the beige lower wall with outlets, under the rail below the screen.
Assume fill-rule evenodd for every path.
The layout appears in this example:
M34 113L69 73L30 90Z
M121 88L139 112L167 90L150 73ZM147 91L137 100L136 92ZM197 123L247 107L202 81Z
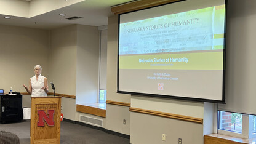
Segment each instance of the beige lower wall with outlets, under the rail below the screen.
M182 138L182 143L203 143L202 124L134 112L130 113L130 120L133 144L178 143L178 138ZM166 134L166 141L162 134Z

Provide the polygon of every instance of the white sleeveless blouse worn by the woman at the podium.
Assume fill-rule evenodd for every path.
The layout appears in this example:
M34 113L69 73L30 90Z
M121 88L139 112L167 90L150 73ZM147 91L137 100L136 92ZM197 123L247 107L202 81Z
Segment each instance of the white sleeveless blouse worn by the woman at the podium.
M32 86L32 97L46 97L47 94L42 89L44 87L44 76L41 76L41 74L38 76L38 80L36 80L36 76L33 76L30 79L31 86Z

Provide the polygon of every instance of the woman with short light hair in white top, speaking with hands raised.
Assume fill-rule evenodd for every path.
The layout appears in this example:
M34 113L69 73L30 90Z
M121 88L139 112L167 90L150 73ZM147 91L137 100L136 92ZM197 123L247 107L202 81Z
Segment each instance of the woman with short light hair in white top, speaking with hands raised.
M26 89L26 92L30 93L32 97L46 97L48 89L47 78L41 75L42 67L40 65L34 66L34 73L36 74L30 78L30 86L23 87Z

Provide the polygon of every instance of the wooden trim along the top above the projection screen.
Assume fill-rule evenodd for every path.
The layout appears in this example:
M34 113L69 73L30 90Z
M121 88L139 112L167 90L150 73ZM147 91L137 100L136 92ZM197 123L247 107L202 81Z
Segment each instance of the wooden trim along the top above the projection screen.
M111 11L116 14L122 14L126 12L132 12L134 10L146 9L148 7L159 6L161 4L168 4L181 0L141 0L122 4L111 8Z

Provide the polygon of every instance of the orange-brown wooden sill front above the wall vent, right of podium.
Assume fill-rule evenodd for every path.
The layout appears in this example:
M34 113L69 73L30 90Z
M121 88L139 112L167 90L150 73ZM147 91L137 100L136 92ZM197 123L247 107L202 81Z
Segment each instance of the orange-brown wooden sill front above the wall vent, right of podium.
M106 118L106 110L86 105L76 105L76 111Z

